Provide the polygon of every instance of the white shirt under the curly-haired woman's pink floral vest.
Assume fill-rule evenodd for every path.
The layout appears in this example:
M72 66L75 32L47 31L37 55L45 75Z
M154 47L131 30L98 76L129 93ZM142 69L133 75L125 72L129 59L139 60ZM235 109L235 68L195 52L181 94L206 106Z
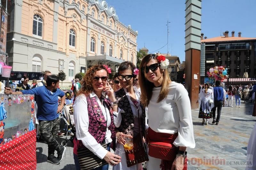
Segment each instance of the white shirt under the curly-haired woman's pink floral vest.
M105 120L107 119L107 131L105 135L106 137L105 140L106 140L106 143L108 144L112 142L111 131L108 129L111 123L108 107L105 106L105 104L104 106L101 104L100 99L94 92L90 93L90 97L91 98L95 97L105 117ZM87 100L84 94L76 97L76 100L73 105L73 109L74 109L74 122L76 127L76 138L78 140L81 140L84 146L88 148L90 151L92 151L95 155L97 155L100 159L103 159L108 151L104 147L102 147L88 131L89 116L88 116L88 110L87 110ZM113 113L117 114L116 112L113 112ZM114 118L114 124L115 124L115 120L116 119Z

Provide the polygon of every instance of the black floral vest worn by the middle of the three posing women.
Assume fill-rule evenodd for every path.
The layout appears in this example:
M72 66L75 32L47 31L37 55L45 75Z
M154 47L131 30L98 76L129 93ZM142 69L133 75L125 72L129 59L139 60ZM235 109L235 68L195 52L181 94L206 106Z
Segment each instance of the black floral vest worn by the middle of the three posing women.
M116 100L118 100L118 107L122 110L124 110L124 113L122 113L122 122L120 127L118 128L118 130L120 132L126 132L128 130L132 130L133 131L133 127L134 127L134 117L133 117L133 113L132 113L132 107L130 105L130 102L124 92L124 89L120 89L118 91L115 92L116 93ZM140 117L140 122L142 122L142 124L140 124L140 127L143 129L143 134L141 134L142 136L145 137L145 117L146 117L146 112L145 112L145 108L143 108L143 106L140 104L141 110L142 110L142 117ZM141 121L142 119L142 121Z

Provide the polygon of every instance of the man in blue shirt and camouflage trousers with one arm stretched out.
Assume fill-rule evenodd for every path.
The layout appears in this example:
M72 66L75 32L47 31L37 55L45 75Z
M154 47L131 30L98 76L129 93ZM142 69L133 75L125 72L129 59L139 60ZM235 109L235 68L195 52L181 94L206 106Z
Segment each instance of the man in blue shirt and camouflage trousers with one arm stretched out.
M66 147L61 146L55 139L60 129L59 112L65 103L65 93L58 89L60 78L55 75L48 76L46 86L36 87L30 90L12 92L11 88L4 90L5 94L34 94L37 102L37 118L39 120L39 131L44 141L48 144L47 162L58 165L63 158ZM61 97L60 106L58 106ZM54 156L57 151L58 157Z

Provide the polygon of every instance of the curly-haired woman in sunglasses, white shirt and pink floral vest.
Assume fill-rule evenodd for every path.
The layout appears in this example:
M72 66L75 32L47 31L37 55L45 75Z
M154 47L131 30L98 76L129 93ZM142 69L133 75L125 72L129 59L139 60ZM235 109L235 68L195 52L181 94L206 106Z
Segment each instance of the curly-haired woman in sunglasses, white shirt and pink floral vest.
M115 138L113 112L117 112L114 91L108 84L111 70L106 65L89 68L82 80L73 105L76 138L74 160L76 169L107 170L121 157L110 151ZM106 98L108 95L108 99Z

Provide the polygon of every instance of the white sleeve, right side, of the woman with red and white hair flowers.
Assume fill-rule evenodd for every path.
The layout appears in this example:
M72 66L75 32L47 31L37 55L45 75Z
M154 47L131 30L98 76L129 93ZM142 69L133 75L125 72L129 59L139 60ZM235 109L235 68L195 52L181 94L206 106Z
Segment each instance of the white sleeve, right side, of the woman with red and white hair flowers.
M185 146L188 148L195 148L195 139L193 132L193 123L191 115L190 100L188 92L183 86L178 86L176 89L176 97L174 98L179 111L178 137L173 144L175 146Z

